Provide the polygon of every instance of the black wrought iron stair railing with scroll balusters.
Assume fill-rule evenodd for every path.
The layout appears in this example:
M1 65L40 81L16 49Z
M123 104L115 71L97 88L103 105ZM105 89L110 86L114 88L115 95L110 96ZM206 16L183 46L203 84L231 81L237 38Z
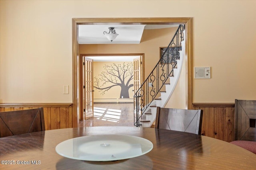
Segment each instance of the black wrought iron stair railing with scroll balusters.
M173 68L176 67L177 59L180 59L179 51L182 49L181 41L184 40L185 25L179 25L176 33L168 47L162 54L160 60L134 94L134 125L141 126L140 117L150 106L156 95L164 86L169 76L173 75ZM149 86L152 83L152 86Z

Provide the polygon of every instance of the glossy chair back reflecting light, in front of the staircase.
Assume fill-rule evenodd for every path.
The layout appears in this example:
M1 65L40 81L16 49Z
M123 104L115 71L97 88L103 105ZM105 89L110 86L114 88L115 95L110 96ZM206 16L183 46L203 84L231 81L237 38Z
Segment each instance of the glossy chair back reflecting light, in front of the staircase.
M157 129L168 129L194 134L201 134L203 110L172 109L157 107Z

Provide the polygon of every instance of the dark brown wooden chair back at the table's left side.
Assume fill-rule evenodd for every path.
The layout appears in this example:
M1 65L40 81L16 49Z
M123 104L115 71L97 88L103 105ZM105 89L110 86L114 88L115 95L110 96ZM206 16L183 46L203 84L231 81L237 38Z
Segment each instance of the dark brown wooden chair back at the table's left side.
M42 107L0 112L0 137L37 131L45 131Z

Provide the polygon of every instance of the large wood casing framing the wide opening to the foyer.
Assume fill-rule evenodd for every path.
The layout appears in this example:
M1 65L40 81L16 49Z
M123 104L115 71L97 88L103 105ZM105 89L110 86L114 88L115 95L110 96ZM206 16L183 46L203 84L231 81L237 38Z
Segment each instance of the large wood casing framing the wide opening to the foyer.
M79 50L78 50L78 25L93 25L102 23L119 23L119 24L185 24L186 29L186 63L188 68L187 88L187 107L192 109L192 18L72 18L72 78L73 78L73 124L78 124L80 113L79 99ZM77 121L75 121L77 120Z

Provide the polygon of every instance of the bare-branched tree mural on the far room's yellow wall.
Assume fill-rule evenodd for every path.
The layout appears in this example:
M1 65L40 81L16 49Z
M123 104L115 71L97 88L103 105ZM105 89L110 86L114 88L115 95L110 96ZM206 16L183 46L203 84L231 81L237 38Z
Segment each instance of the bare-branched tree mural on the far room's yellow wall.
M94 77L94 87L104 95L110 88L115 86L121 87L120 98L130 98L129 89L133 86L130 84L133 79L133 64L123 63L103 66L105 71L102 71L100 78ZM102 84L101 84L102 83ZM101 85L100 85L101 84Z

